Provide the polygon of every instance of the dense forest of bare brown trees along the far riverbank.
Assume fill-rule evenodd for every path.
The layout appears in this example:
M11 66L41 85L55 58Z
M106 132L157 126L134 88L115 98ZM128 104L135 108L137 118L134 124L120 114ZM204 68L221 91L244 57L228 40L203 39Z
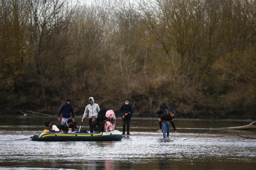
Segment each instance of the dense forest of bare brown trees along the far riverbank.
M0 1L1 112L256 117L256 0Z

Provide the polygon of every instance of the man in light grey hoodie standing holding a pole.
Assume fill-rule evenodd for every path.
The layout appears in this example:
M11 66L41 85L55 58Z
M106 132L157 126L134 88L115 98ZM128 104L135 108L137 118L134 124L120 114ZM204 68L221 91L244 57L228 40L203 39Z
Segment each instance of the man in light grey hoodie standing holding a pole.
M85 108L85 113L83 114L82 119L84 119L86 116L89 116L90 133L93 133L93 126L91 126L91 122L95 121L100 109L99 105L97 103L94 103L93 97L89 98L89 103L90 104L88 104ZM94 131L96 131L96 129L94 129Z

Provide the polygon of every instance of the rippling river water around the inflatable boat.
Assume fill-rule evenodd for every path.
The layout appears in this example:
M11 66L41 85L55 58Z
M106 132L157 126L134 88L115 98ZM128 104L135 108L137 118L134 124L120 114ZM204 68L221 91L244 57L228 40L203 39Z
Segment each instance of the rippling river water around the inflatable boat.
M0 123L0 169L254 169L256 140L216 137L233 131L215 128L247 125L252 120L175 119L178 133L170 128L163 138L158 118L133 117L130 136L115 142L38 142L30 136L44 129L55 117L2 116ZM81 124L80 119L75 121ZM117 118L117 130L122 120ZM81 129L89 131L88 119ZM208 133L211 131L210 133ZM214 133L212 133L214 132ZM256 131L237 131L256 137ZM194 137L195 135L215 137ZM15 139L24 139L14 141ZM185 140L186 139L186 140ZM6 141L12 140L12 141Z

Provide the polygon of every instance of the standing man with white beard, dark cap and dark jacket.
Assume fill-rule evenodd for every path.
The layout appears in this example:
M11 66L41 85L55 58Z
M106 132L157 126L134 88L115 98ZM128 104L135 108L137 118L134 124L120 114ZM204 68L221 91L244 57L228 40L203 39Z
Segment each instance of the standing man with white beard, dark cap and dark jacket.
M129 99L125 99L122 103L119 113L123 122L123 135L125 134L125 125L127 124L127 135L130 135L130 121L133 113L133 105L129 103Z

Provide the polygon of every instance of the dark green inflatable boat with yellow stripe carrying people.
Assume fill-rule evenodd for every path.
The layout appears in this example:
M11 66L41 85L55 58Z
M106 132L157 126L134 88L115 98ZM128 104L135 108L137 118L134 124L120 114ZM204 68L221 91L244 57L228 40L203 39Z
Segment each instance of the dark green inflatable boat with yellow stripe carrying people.
M123 135L113 130L99 133L39 133L30 138L31 141L121 141Z

